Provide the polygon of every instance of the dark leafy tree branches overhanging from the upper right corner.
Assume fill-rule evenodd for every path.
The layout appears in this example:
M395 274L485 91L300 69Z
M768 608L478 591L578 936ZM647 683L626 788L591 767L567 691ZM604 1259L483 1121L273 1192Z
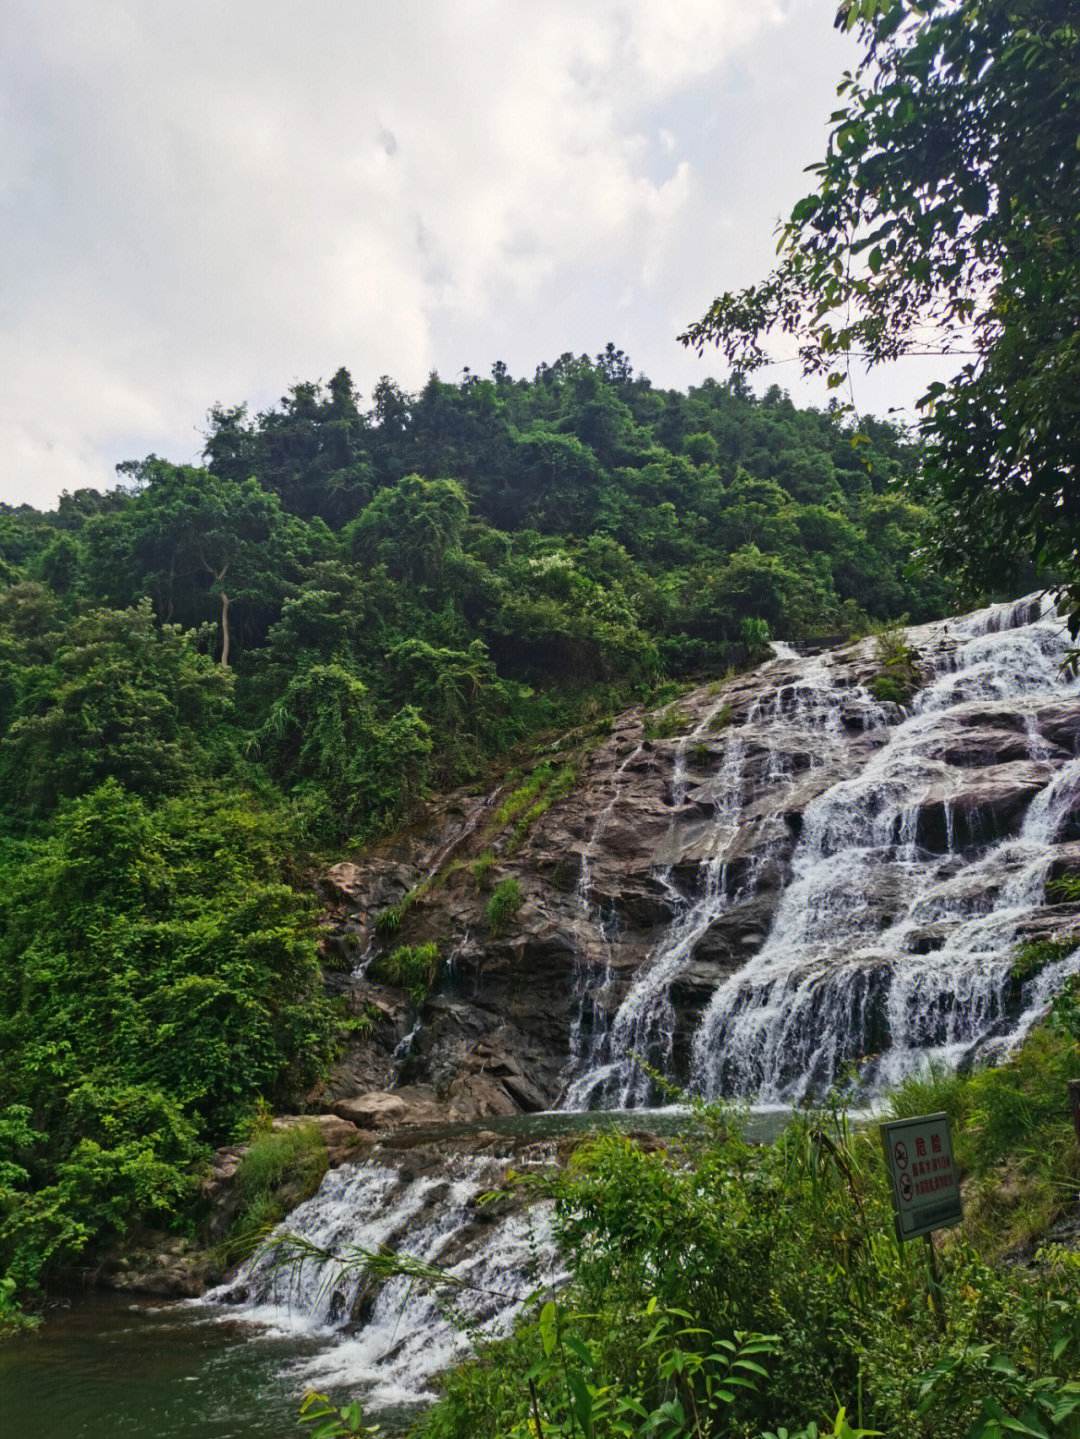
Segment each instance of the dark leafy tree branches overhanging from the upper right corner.
M861 45L779 263L683 335L745 373L779 332L833 389L851 363L952 354L922 400L938 560L974 590L1066 581L1080 625L1080 29L1061 0L843 0Z

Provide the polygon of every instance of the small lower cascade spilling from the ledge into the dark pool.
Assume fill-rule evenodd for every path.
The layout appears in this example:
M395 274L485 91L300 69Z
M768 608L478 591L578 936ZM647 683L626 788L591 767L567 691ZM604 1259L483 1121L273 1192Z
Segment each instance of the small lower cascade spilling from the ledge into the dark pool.
M372 1284L272 1250L197 1302L230 1322L326 1341L296 1361L298 1390L341 1384L375 1407L430 1399L430 1380L477 1334L506 1333L531 1292L561 1282L544 1206L495 1220L477 1209L503 1173L505 1161L460 1154L418 1177L390 1164L342 1166L275 1230L335 1255L385 1246L437 1265L462 1284L446 1302L406 1276Z

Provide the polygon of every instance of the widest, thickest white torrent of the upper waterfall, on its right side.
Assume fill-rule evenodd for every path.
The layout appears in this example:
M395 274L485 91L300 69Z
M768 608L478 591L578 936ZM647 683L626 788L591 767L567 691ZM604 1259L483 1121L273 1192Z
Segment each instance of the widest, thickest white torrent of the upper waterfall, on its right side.
M1047 846L1080 794L1080 761L1051 768L1034 727L1040 707L1077 694L1061 672L1061 626L1024 600L952 632L959 645L910 717L808 804L766 943L718 987L695 1038L696 1091L790 1102L850 1065L880 1088L930 1058L956 1063L998 1030L1020 1036L1050 986L1080 967L1080 954L1060 961L1017 1006L1018 928L1043 902ZM978 813L956 832L956 776L939 755L965 711L1025 721L1022 778L1041 791L1014 836L984 839ZM935 799L943 836L928 843Z

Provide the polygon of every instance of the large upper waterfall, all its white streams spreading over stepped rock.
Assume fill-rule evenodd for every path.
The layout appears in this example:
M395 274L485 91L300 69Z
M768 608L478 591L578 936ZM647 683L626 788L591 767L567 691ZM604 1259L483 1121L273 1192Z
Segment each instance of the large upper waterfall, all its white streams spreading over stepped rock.
M647 1104L636 1055L674 1078L672 986L709 931L764 892L775 892L764 943L718 974L693 1035L689 1081L705 1097L797 1102L848 1075L866 1094L928 1059L1008 1048L1080 967L1070 955L1022 986L1010 973L1080 796L1080 760L1040 730L1040 714L1080 695L1061 669L1063 626L1030 596L909 636L925 684L907 709L853 684L853 659L861 673L873 663L870 640L807 658L774 645L762 692L693 791L699 812L712 806L696 882L685 894L657 865L673 918L564 1107ZM1008 763L979 771L985 802L965 748L979 725L1015 734ZM679 741L673 827L687 750L706 728ZM604 823L617 802L613 789Z

